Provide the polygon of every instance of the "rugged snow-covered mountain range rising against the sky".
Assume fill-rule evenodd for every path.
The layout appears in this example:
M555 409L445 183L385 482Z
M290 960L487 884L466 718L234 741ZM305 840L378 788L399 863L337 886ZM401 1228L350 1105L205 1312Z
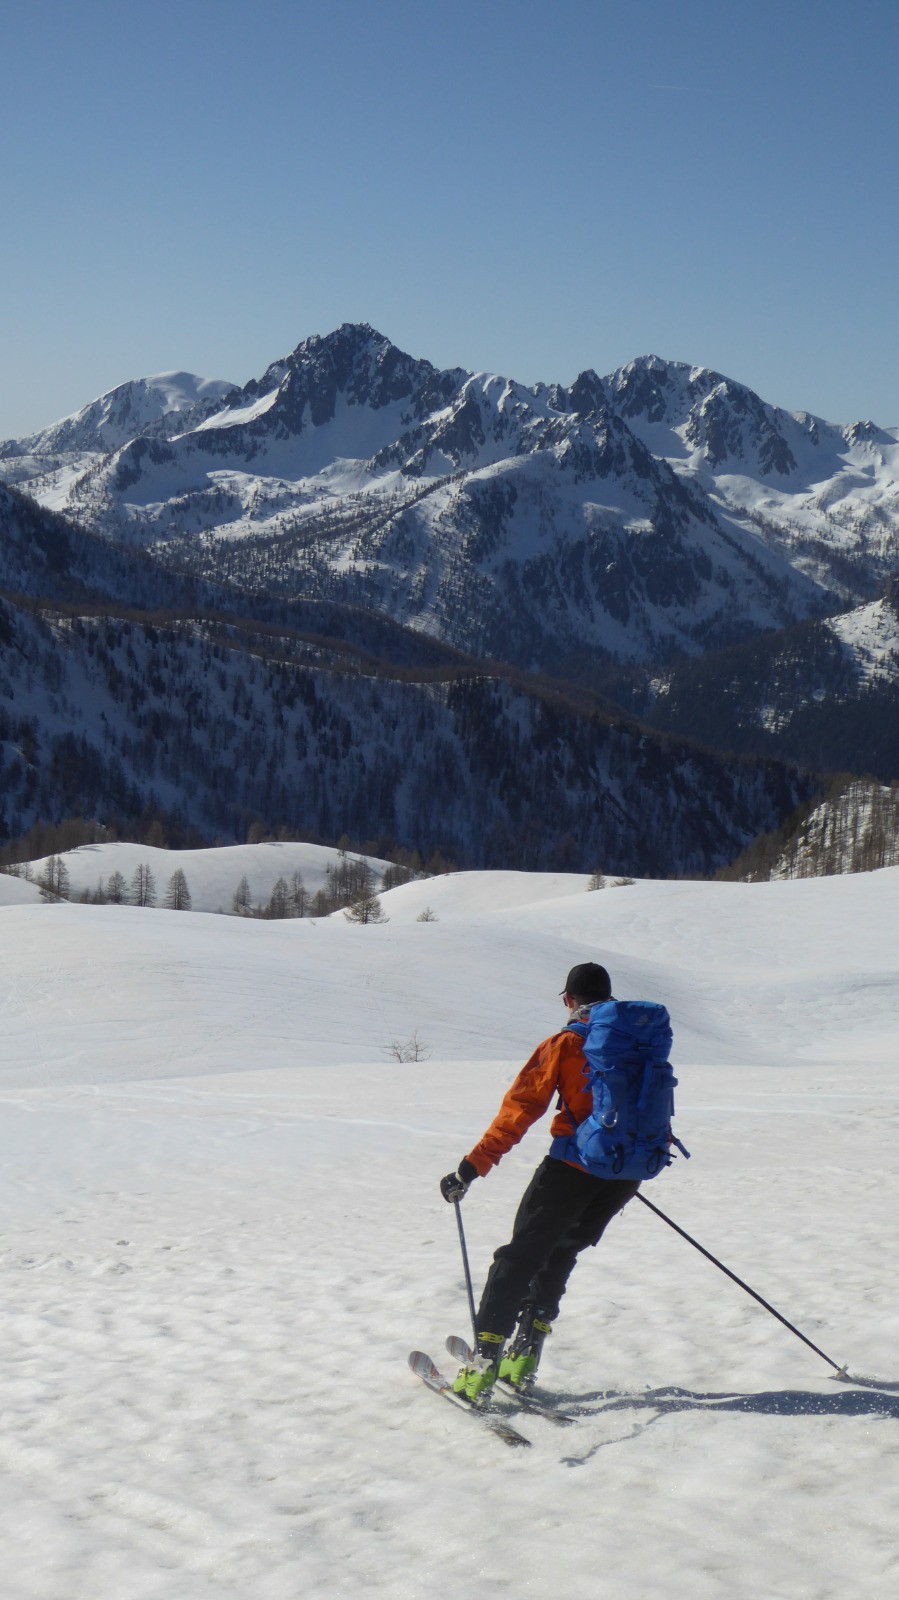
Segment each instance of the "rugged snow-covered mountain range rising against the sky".
M126 438L118 408L106 440L59 424L14 442L0 474L194 574L555 672L872 600L896 560L897 435L792 416L704 368L646 357L525 387L344 325L243 389L200 387ZM88 434L107 453L85 467L61 445Z

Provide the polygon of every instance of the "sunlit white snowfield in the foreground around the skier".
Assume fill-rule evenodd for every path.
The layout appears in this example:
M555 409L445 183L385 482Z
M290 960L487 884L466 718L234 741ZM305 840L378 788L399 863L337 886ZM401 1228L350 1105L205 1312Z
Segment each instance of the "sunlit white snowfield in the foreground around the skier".
M8 1600L896 1592L899 869L585 882L368 928L0 909ZM693 1160L648 1198L883 1392L638 1203L544 1357L574 1427L505 1451L408 1373L467 1328L437 1181L584 957L672 1010ZM545 1142L465 1198L478 1285Z

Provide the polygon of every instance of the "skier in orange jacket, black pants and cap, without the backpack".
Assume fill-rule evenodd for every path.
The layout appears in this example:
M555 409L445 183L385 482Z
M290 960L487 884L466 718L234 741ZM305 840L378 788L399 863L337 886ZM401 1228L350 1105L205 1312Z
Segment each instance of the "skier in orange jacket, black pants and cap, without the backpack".
M579 1253L598 1243L606 1224L640 1187L635 1179L589 1173L573 1139L574 1128L590 1114L592 1094L584 1074L584 1030L571 1024L585 1022L590 1008L609 998L605 966L582 962L571 968L561 992L566 1027L537 1045L483 1138L440 1181L445 1200L462 1200L475 1178L496 1166L557 1096L549 1155L521 1195L512 1238L496 1251L486 1277L477 1312L478 1362L462 1366L453 1384L467 1400L483 1403L497 1378L523 1390L533 1384Z

